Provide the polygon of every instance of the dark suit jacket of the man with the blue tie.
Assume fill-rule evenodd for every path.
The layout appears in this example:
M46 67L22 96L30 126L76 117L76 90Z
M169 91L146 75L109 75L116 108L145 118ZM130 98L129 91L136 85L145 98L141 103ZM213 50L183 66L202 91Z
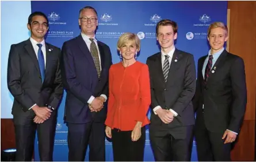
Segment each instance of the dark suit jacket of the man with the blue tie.
M34 116L28 109L37 104L58 108L63 95L59 67L60 49L45 42L46 67L44 82L41 81L39 63L30 39L12 45L7 66L7 85L14 96L12 114Z

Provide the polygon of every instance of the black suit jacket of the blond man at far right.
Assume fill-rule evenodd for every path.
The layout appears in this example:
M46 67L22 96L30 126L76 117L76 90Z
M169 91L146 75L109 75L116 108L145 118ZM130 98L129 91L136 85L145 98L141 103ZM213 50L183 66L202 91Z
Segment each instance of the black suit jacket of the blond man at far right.
M211 70L205 85L202 66L206 58L199 58L197 66L197 89L193 99L197 112L196 127L205 123L211 132L229 129L239 133L247 102L243 59L224 50L213 65L214 72Z

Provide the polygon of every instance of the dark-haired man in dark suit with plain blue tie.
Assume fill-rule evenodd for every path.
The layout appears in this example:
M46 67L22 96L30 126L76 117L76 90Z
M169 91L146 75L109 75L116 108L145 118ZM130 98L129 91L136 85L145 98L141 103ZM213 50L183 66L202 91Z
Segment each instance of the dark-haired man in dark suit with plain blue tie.
M32 160L36 129L40 160L52 161L56 111L63 95L60 49L44 41L45 14L30 14L28 29L31 37L11 46L7 67L7 85L14 96L16 161Z

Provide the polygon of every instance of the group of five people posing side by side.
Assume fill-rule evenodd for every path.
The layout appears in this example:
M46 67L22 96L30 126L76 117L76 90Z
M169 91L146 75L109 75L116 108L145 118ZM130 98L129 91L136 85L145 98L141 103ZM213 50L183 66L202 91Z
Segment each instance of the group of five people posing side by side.
M88 145L90 161L105 161L105 136L112 140L114 161L143 161L148 124L156 161L190 161L194 135L199 161L231 160L247 90L242 58L224 49L224 23L209 26L211 49L198 60L196 75L193 55L175 48L174 21L157 23L161 52L146 64L136 60L137 35L122 34L121 61L113 65L109 46L95 38L97 11L83 7L78 22L81 34L60 50L45 42L48 19L36 11L28 18L31 37L10 48L7 85L14 96L16 161L31 161L36 130L40 161L53 160L63 89L68 161L84 161Z

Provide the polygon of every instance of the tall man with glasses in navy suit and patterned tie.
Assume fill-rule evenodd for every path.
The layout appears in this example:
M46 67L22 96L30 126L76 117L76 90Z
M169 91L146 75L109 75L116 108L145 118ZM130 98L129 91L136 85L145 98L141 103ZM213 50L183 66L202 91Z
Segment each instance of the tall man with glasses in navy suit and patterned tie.
M68 160L84 161L89 144L89 160L105 161L105 101L112 57L109 46L95 39L96 10L83 7L78 21L81 35L64 42L61 59L67 90Z

